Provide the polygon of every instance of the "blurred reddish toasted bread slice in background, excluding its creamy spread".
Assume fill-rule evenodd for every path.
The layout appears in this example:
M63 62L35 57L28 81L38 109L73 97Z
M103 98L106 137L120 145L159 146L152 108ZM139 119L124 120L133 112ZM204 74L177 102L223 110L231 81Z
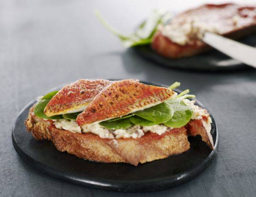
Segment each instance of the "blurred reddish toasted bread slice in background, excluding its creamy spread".
M240 39L256 32L256 7L240 6L232 3L213 5L206 4L190 9L174 17L167 25L169 27L182 27L190 20L191 26L197 24L206 29L232 39ZM167 58L182 58L197 55L211 49L193 32L186 34L186 44L180 44L163 34L163 27L154 35L152 49ZM210 31L210 30L206 30Z

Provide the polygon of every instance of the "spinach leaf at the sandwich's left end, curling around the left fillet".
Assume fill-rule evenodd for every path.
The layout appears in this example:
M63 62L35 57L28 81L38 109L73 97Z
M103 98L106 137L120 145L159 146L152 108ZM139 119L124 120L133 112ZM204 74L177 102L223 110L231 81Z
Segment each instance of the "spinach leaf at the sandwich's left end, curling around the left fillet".
M44 109L45 109L46 105L51 100L51 98L57 94L57 92L59 92L59 91L49 92L48 94L44 95L40 101L37 102L37 104L35 105L35 108L34 108L35 116L37 116L39 118L45 118L45 119L62 119L63 118L61 115L49 117L49 116L46 116L44 113Z

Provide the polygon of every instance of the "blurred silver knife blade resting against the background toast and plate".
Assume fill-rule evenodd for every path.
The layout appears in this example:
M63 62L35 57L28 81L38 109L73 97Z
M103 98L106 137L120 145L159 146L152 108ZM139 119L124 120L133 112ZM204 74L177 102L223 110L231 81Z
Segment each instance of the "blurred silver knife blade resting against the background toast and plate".
M256 68L256 48L222 37L211 32L205 32L203 42L229 57L248 66Z

